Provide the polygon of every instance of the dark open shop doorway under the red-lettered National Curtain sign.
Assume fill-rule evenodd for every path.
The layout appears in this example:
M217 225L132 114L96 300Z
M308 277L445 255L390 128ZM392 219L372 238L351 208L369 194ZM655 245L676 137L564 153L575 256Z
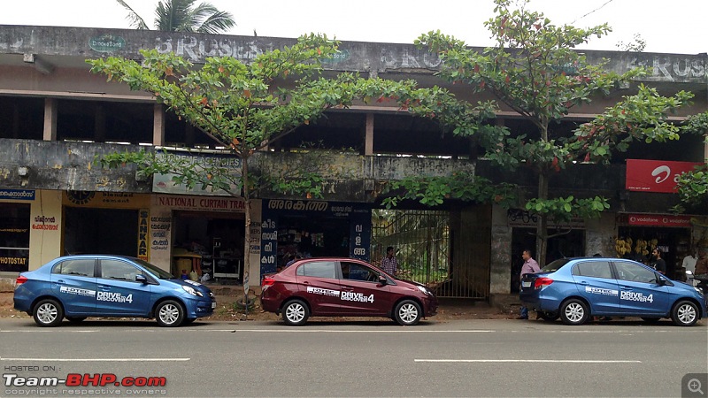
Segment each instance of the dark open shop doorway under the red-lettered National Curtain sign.
M173 219L173 275L186 270L199 279L208 273L209 280L242 283L243 213L175 211Z

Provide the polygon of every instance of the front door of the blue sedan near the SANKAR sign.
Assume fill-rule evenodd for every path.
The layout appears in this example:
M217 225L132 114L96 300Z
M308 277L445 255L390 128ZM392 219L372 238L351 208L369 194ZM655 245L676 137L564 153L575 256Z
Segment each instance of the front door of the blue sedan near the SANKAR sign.
M101 259L96 279L96 313L104 316L145 316L150 307L150 285L135 280L144 275L134 264Z

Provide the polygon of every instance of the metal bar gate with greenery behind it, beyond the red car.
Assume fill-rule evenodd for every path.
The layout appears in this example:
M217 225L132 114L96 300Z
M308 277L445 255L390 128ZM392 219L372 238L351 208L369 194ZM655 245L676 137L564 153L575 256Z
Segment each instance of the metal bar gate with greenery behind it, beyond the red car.
M450 279L450 213L429 210L372 211L372 262L381 264L386 248L395 248L398 276L440 291Z

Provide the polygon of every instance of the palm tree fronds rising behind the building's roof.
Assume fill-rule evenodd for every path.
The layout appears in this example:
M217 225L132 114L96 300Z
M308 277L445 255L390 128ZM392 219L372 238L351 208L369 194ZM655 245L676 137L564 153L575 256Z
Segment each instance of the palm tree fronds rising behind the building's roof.
M128 11L127 19L135 29L150 29L124 0L116 0ZM155 8L155 28L163 32L198 32L219 34L235 27L231 12L219 11L209 3L195 6L196 0L165 0Z

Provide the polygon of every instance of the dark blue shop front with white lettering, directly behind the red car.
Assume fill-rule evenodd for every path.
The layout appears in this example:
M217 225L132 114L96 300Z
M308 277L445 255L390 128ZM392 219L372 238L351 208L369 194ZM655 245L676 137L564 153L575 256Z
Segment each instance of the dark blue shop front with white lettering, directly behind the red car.
M261 274L276 272L294 256L353 257L369 261L371 206L271 199L261 223Z

